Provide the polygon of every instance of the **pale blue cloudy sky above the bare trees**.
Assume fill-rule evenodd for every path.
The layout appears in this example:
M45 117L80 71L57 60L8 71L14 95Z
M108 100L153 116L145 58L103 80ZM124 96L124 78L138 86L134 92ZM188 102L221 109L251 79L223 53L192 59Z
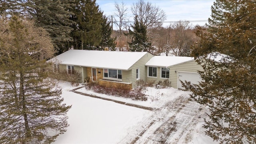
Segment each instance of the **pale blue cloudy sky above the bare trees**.
M118 3L122 3L122 0L116 0ZM208 18L211 15L211 6L215 0L144 0L159 6L166 13L167 19L163 23L163 26L168 26L170 22L179 20L189 20L193 26L196 24L204 25L208 22ZM115 0L96 0L100 9L106 16L113 15L115 12L114 7ZM124 4L128 8L128 13L132 16L130 10L131 5L138 0L123 0ZM133 21L133 17L130 18ZM114 28L115 29L115 28Z

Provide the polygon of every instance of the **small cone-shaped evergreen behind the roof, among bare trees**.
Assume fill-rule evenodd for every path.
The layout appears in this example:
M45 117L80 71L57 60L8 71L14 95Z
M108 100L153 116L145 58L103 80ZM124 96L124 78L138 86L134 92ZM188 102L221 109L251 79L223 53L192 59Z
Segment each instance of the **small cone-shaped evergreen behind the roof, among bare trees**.
M132 26L133 31L129 28L129 35L132 38L132 41L129 42L130 51L141 52L147 51L150 52L151 43L148 42L146 36L146 26L142 22L138 21L137 16L134 18L134 26Z

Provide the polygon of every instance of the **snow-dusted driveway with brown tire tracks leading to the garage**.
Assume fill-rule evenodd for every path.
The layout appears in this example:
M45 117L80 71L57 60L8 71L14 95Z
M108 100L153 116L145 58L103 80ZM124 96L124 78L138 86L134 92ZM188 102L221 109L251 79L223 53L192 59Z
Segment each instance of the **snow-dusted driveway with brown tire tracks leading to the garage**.
M185 144L191 142L196 124L205 114L206 108L188 96L179 96L167 102L120 144ZM131 141L132 140L132 141Z

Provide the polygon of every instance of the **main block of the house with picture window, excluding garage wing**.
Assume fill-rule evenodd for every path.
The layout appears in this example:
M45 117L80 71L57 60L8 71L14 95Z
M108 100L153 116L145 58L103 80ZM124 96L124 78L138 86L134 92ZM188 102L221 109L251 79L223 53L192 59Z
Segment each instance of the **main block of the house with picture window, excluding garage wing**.
M68 50L48 61L70 74L80 72L81 83L90 77L100 85L132 89L136 80L146 81L145 64L152 57L148 52Z

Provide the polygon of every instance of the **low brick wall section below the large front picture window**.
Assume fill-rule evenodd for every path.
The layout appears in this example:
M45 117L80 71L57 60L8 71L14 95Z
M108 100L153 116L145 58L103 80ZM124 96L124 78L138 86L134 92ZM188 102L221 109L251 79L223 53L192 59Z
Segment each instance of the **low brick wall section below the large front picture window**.
M125 89L125 90L131 90L132 84L125 84L121 82L112 82L112 81L106 81L106 80L99 80L100 86L106 86L108 88L118 88L118 89Z

